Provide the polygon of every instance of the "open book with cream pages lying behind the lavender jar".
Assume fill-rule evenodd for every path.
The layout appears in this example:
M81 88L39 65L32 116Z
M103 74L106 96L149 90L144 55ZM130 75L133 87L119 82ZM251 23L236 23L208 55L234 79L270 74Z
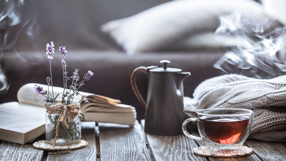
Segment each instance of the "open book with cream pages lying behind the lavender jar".
M0 140L25 144L45 133L45 101L42 95L35 92L35 84L23 85L18 90L18 102L0 104ZM38 85L43 87L44 91L47 90L47 85ZM61 95L62 91L61 87L53 87L54 95ZM90 102L85 104L80 95L74 96L74 99L80 102L84 121L134 125L134 107L123 105L120 100L92 93L80 93L86 95Z

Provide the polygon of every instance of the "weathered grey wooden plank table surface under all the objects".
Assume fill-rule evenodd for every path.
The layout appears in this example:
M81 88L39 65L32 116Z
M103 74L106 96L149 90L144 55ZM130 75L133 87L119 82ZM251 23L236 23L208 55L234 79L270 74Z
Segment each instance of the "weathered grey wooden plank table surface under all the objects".
M20 145L0 140L0 160L286 160L286 143L248 139L245 146L253 153L239 158L198 156L194 148L205 145L186 136L155 136L144 134L142 124L128 125L94 122L82 123L82 139L89 145L78 150L46 151L32 143ZM37 140L45 139L44 136Z

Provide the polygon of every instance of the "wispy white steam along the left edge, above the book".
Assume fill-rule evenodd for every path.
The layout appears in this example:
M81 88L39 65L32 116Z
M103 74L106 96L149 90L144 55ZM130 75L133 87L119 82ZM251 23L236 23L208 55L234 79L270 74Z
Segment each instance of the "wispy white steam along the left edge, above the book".
M24 5L24 0L0 1L0 95L9 89L8 78L1 68L5 50L14 49L17 38L24 27L26 35L32 40L33 32L35 31L34 28L37 25L35 9L24 8ZM24 15L23 11L25 9L28 12ZM22 58L16 51L15 54ZM24 59L22 58L22 60Z

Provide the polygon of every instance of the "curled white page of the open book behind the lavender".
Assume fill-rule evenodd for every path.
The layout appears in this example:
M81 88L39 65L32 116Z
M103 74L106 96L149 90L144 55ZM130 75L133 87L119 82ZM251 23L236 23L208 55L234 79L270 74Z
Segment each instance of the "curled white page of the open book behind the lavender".
M18 99L19 103L24 103L24 104L28 104L28 105L44 107L44 105L45 105L45 101L44 101L45 97L43 95L40 95L40 94L35 92L35 89L34 89L35 85L43 87L43 91L48 91L47 85L42 85L42 84L37 84L37 83L25 84L18 90L18 93L17 93L17 99ZM49 92L52 93L51 86L49 87ZM62 92L63 92L63 88L62 87L53 87L54 96L59 94L57 99L61 99ZM94 95L92 93L86 93L86 92L80 92L80 94L86 95L86 96L87 95ZM78 96L75 95L74 99L80 101L82 99L82 96L81 95L78 95Z

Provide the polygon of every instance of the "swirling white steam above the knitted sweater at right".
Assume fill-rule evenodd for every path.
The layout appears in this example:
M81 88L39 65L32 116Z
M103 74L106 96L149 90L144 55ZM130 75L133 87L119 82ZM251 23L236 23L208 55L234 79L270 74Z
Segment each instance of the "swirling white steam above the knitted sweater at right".
M260 79L286 74L286 33L281 23L271 18L250 20L239 12L220 17L220 21L215 34L235 37L239 43L215 63L215 68Z

